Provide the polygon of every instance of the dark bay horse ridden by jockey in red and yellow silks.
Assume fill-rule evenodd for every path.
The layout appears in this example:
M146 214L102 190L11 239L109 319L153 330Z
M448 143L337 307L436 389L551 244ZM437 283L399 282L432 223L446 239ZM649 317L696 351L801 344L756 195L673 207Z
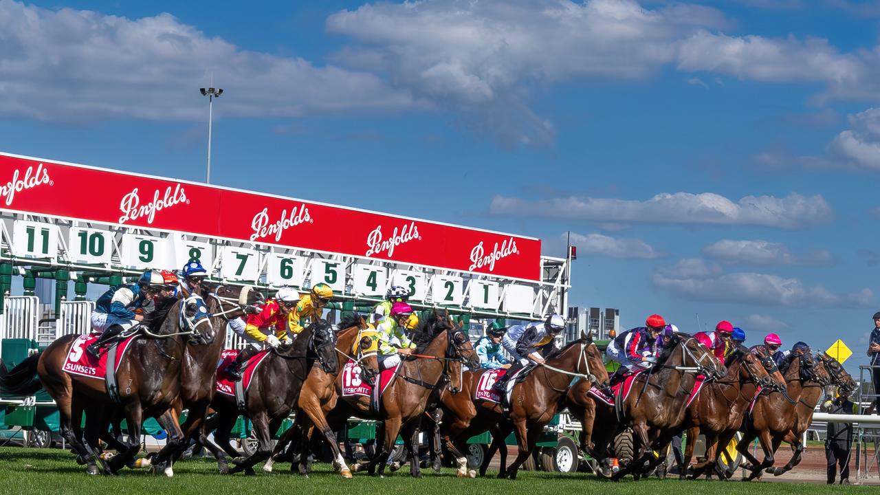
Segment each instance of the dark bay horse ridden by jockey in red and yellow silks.
M296 407L303 381L316 360L326 372L336 373L336 335L326 320L313 321L293 344L269 351L253 373L245 392L246 411L243 414L251 418L257 450L244 460L233 461L236 466L229 470L230 473L244 471L253 475L253 465L272 453L272 435ZM216 411L215 441L227 454L236 457L238 453L229 443L230 432L241 412L235 397L216 394L211 409Z

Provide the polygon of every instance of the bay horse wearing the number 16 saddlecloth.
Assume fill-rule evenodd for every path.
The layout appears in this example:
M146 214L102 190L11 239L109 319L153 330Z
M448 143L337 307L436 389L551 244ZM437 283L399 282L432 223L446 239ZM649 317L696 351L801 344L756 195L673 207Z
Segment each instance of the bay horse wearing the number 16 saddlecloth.
M446 447L456 456L458 476L466 474L465 443L473 435L487 430L492 435L488 454L480 465L480 476L486 475L489 462L500 451L501 469L498 477L516 479L519 467L532 454L538 435L560 409L573 377L607 384L608 373L601 353L589 337L582 334L559 350L551 351L541 365L517 380L510 395L510 413L505 415L502 405L490 401L475 401L473 393L484 373L480 369L465 373L461 394L444 394L444 422L442 436ZM594 374L596 373L596 374ZM516 433L518 454L508 467L507 447L504 440L510 432ZM467 473L470 474L470 473Z

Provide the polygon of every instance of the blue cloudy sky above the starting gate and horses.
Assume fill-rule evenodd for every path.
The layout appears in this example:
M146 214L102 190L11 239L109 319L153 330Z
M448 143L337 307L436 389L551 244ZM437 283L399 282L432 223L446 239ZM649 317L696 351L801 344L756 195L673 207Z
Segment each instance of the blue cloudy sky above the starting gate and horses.
M570 304L864 351L880 2L0 0L0 150L539 237ZM88 194L100 194L89 190Z

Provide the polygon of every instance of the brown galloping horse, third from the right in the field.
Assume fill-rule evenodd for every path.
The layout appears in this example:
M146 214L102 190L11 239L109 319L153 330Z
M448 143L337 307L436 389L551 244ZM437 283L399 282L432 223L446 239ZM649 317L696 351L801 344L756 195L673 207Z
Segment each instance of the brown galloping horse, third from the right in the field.
M781 380L782 377L780 376ZM758 388L774 387L774 379L767 374L759 358L748 351L738 351L730 359L727 374L703 386L700 395L687 407L684 426L687 427L687 446L683 466L691 462L693 447L700 434L706 437L706 458L693 465L693 477L715 467L718 457L718 439L722 432L738 428ZM685 479L687 469L678 477Z

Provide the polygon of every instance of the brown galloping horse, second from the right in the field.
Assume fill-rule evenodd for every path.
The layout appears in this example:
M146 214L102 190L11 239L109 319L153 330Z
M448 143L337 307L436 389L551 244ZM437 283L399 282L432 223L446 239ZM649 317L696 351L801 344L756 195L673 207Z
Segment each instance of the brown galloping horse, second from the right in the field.
M770 468L774 464L774 453L780 443L796 428L796 406L799 404L803 387L808 382L828 383L829 376L824 368L818 368L818 359L810 353L797 354L792 352L786 358L785 377L786 392L773 392L769 395L761 395L752 409L752 414L745 417L745 432L743 439L737 444L737 450L748 461L742 467L752 472L745 477L746 481L759 477L761 471ZM815 404L814 404L815 405ZM749 452L749 444L758 438L761 449L764 451L764 461L758 459ZM796 448L803 449L800 439L795 439Z

